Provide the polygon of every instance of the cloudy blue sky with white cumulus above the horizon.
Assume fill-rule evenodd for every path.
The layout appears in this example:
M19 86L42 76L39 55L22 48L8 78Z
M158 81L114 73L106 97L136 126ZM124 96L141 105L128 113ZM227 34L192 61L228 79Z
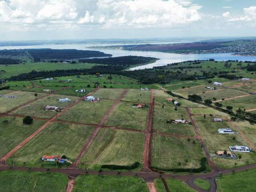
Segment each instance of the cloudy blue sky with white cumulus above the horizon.
M255 0L0 0L0 40L256 36Z

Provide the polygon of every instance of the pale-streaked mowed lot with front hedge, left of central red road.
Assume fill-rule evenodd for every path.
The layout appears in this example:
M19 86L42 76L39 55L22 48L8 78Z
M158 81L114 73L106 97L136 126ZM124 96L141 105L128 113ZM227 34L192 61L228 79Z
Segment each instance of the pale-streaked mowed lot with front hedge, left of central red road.
M143 133L100 128L78 166L99 170L104 164L142 164L144 140Z

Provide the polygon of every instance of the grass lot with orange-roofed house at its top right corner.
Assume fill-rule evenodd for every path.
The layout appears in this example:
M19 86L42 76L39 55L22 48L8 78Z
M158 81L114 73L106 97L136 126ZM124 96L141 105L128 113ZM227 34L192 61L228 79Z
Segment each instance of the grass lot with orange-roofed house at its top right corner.
M136 130L145 130L148 120L148 108L134 108L133 103L120 102L108 116L104 125Z

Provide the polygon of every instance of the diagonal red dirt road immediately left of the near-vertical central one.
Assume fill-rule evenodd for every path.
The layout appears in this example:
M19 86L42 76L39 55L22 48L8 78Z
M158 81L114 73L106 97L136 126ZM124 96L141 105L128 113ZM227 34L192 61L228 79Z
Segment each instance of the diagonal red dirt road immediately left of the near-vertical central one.
M80 162L82 156L84 155L84 153L86 152L86 150L88 149L88 147L90 146L90 144L92 143L92 140L94 139L94 137L96 136L96 134L98 133L98 130L100 129L100 127L102 126L102 124L104 123L104 121L106 120L106 118L108 118L108 116L110 115L110 113L114 110L114 108L117 106L117 104L120 102L121 98L126 94L128 90L124 90L124 92L117 98L117 100L114 102L114 104L109 108L108 112L103 116L103 118L100 120L100 123L98 124L98 126L93 130L92 134L90 135L90 138L87 140L86 144L84 145L84 148L81 150L80 154L77 156L75 162L72 164L72 167L76 167L78 165L78 163Z

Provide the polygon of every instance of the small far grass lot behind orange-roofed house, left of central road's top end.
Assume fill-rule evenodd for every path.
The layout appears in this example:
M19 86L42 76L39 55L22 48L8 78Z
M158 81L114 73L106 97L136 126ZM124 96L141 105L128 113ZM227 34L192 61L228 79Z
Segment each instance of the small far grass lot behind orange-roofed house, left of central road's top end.
M141 91L140 89L130 89L122 98L122 101L134 102L134 103L149 103L151 91Z

